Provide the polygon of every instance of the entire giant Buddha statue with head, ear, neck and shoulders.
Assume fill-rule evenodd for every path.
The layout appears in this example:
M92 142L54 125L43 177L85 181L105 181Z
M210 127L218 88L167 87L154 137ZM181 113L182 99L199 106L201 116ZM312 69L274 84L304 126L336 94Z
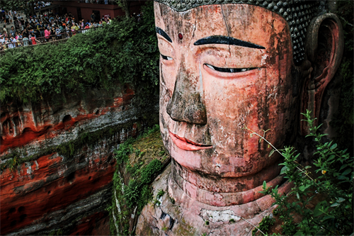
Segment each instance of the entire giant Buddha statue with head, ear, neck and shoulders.
M154 2L160 127L172 164L158 180L168 194L144 208L137 235L247 235L273 209L259 193L263 181L289 191L280 154L249 130L281 149L306 134L300 113L319 116L343 54L341 23L323 6Z

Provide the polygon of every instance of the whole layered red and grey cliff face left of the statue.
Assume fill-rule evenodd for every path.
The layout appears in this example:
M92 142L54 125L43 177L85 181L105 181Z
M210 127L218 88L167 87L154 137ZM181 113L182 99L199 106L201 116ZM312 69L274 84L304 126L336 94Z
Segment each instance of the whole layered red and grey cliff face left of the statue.
M113 150L154 117L129 86L1 106L1 235L109 235Z

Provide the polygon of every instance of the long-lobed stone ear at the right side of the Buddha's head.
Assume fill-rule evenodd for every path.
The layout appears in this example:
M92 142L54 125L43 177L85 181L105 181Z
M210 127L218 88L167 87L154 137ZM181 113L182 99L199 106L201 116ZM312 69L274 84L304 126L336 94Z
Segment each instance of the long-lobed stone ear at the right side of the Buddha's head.
M304 84L302 113L309 110L312 111L312 118L319 118L322 96L341 64L343 46L343 28L335 14L326 13L311 21L306 42L307 60L311 68ZM306 122L302 121L300 128L302 135L308 133Z

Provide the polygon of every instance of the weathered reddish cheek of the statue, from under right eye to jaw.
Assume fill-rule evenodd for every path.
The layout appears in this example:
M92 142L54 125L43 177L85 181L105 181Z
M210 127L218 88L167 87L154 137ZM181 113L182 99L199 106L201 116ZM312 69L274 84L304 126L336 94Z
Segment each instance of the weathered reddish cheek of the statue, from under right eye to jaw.
M239 79L204 76L207 125L215 147L212 163L221 166L220 172L238 172L235 168L257 172L265 162L271 164L278 159L275 155L268 157L271 147L264 141L259 142L259 137L251 135L250 131L263 135L263 130L273 129L278 122L273 112L277 100L270 96L278 93L278 87L267 84L265 78L265 69L256 69L253 74ZM268 134L267 137L270 141L276 138ZM258 162L261 163L256 164Z

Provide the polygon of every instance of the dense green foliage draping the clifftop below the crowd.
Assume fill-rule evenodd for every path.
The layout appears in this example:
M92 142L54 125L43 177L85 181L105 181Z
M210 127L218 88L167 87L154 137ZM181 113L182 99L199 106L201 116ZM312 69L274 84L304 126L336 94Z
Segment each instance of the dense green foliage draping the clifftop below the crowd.
M97 88L113 94L117 83L133 84L151 103L147 94L157 91L159 81L152 2L142 11L142 21L115 20L67 43L7 50L1 56L0 103L84 96Z

